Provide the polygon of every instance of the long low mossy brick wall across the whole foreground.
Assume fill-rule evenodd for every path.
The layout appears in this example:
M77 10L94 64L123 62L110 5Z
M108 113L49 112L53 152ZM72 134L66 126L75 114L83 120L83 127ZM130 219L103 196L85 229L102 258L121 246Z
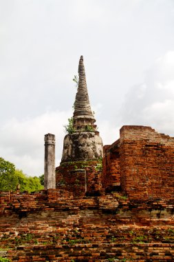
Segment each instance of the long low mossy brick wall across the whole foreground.
M174 259L173 205L164 201L117 192L74 199L57 189L1 192L0 203L0 256L12 261Z

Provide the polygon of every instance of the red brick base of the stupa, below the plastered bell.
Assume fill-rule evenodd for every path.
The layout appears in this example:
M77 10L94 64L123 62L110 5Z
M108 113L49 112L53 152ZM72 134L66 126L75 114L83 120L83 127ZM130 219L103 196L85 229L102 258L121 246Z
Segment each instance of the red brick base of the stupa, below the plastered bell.
M74 196L101 194L99 161L74 161L56 168L56 188L68 190Z

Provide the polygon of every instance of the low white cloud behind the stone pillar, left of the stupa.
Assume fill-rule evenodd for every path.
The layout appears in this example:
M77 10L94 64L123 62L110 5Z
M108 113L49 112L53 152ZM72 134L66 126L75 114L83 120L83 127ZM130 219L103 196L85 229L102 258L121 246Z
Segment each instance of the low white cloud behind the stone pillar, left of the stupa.
M11 119L1 128L0 155L30 175L40 175L44 166L44 134L56 135L56 165L61 161L63 125L72 112L45 112L33 119Z

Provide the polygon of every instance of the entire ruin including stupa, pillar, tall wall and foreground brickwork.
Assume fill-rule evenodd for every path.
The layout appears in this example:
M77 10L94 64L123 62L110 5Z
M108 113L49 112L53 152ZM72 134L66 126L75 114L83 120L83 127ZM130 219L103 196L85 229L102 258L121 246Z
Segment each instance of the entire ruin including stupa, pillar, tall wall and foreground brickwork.
M0 192L0 257L12 262L173 262L174 138L124 125L104 146L83 57L63 159L52 188L54 135L45 135L45 188ZM92 130L92 131L91 131ZM49 157L50 156L50 157ZM50 172L48 172L50 170ZM48 179L50 177L50 179Z

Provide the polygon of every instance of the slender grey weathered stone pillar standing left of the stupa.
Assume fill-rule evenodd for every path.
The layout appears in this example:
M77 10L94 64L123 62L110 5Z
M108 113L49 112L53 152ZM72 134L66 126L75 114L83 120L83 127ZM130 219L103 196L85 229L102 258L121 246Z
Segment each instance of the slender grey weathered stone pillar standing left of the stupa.
M44 188L56 188L55 135L45 134Z

